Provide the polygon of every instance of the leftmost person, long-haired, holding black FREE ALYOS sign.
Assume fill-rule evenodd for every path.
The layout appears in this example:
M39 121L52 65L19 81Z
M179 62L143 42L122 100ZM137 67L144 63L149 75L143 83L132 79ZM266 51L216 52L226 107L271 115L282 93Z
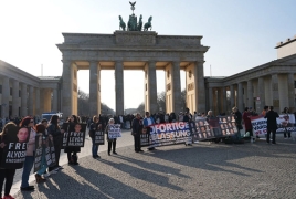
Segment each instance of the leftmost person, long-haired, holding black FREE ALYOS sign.
M4 158L3 148L7 146L7 143L6 143L7 136L17 128L18 128L17 125L10 122L3 127L3 130L0 133L0 190L1 190L0 198L1 199L2 199L2 190L3 190L4 180L6 180L6 188L4 188L3 199L13 199L13 197L11 197L9 193L13 184L15 169L4 168L4 165L2 165L2 159Z

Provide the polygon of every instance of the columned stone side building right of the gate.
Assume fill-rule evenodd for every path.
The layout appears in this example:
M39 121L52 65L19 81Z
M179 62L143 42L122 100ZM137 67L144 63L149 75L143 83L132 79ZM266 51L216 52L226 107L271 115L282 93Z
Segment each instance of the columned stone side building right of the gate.
M240 111L252 107L261 113L264 106L282 112L295 109L296 35L278 42L277 60L228 77L205 77L207 109L229 114L233 106Z

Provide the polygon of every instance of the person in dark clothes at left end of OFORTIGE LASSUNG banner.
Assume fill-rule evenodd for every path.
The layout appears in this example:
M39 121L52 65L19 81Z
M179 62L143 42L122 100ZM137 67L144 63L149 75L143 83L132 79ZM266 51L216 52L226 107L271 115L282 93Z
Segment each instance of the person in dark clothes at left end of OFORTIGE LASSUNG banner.
M133 136L134 136L135 153L144 151L140 146L140 135L141 135L144 125L142 125L142 119L139 113L137 113L136 117L133 119L131 128L133 128Z

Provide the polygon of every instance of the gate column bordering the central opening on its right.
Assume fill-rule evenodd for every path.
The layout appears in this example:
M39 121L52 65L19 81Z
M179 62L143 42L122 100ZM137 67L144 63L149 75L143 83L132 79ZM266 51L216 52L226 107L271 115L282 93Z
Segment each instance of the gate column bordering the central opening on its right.
M148 103L149 112L157 113L157 80L156 80L156 62L148 62Z

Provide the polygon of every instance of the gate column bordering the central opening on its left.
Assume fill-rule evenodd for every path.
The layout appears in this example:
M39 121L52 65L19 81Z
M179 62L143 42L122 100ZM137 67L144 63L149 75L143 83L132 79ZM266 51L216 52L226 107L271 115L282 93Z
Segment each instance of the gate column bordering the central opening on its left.
M124 65L123 62L115 62L115 93L116 115L124 115Z

